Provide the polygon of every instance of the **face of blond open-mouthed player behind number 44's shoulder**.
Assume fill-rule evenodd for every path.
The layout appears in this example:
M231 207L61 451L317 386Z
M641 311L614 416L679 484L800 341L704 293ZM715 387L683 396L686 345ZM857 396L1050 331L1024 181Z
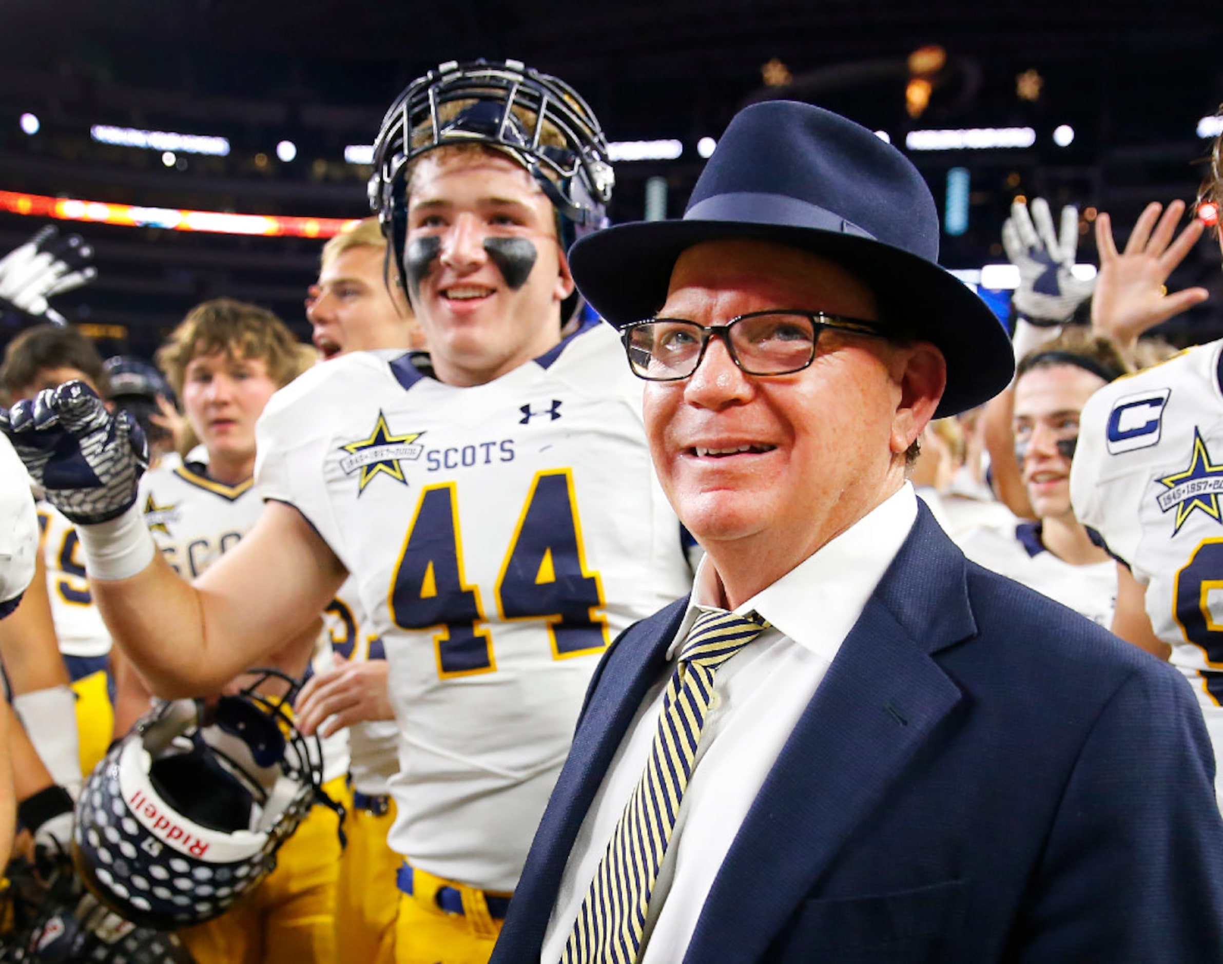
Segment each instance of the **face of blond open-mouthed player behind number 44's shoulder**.
M311 285L306 317L323 360L349 351L406 347L407 306L400 307L383 279L383 250L358 245L328 258Z

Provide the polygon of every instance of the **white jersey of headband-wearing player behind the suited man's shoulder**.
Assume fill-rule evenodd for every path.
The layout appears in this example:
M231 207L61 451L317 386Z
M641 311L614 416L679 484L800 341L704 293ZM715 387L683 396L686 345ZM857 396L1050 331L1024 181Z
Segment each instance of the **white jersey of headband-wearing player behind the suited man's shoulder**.
M1040 522L974 528L956 537L972 562L1069 606L1104 629L1117 607L1117 563L1071 565L1044 548Z

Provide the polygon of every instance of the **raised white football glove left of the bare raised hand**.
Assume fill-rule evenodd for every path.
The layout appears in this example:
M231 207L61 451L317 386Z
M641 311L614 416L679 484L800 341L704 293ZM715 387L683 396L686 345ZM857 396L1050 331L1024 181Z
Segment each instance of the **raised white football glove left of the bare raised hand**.
M1060 228L1054 234L1053 214L1041 197L1031 206L1016 201L1002 226L1007 257L1019 268L1019 287L1011 301L1037 325L1069 321L1096 287L1095 278L1084 281L1071 270L1079 247L1079 210L1073 204L1062 208Z

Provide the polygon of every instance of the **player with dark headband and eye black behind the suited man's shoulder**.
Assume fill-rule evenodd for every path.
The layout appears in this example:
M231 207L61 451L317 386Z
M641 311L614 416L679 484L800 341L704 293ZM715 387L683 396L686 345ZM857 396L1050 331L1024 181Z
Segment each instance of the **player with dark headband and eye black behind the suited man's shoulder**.
M1125 374L1108 340L1069 329L1020 360L1015 371L1015 461L1035 522L982 526L956 537L964 554L1109 626L1117 566L1070 506L1079 417L1092 393Z

